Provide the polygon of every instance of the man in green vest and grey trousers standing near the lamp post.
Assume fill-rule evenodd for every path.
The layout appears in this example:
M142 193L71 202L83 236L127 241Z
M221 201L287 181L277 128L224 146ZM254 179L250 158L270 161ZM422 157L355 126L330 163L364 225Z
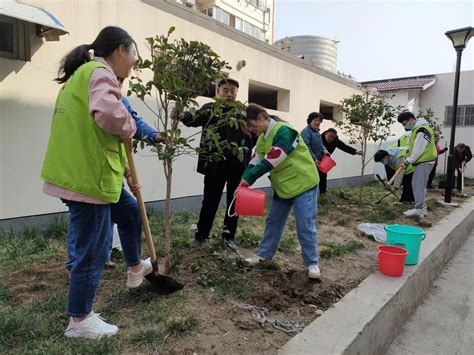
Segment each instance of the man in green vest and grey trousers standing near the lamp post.
M408 168L413 165L415 168L412 179L415 208L403 214L423 218L426 215L426 183L437 157L434 132L428 121L422 117L416 119L410 111L400 113L397 120L405 130L412 131L408 141L409 156L405 159L404 166Z

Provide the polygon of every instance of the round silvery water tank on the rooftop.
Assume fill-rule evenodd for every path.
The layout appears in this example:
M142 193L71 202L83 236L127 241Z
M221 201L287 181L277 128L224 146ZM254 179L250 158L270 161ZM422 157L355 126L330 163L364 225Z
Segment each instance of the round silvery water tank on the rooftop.
M314 66L337 71L337 41L320 36L285 37L275 42L275 46L299 57L311 59Z

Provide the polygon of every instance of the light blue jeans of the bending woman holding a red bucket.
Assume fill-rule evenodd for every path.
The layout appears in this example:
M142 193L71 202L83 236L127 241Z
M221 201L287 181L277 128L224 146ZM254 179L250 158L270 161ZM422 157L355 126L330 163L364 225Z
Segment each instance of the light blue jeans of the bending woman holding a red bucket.
M290 214L295 211L296 232L301 245L301 253L306 266L318 263L318 232L316 230L317 187L292 199L273 196L272 206L265 221L263 240L258 247L258 255L271 260L280 244L281 235Z

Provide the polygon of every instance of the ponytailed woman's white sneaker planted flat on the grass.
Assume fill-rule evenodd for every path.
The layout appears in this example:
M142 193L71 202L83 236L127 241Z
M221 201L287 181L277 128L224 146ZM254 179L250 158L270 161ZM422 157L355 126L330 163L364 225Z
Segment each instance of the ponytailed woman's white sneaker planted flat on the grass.
M71 317L64 335L68 338L100 339L115 335L117 332L116 325L104 322L99 313L91 312L80 322L75 322Z

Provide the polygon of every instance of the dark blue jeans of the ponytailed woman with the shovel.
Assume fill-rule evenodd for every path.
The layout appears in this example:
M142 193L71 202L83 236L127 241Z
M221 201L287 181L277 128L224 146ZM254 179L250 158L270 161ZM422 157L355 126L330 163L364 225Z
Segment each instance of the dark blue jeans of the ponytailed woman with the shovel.
M92 311L100 273L110 251L112 222L117 223L128 266L140 263L142 224L137 203L125 189L117 203L95 205L66 200L64 203L70 213L68 314L80 317Z

